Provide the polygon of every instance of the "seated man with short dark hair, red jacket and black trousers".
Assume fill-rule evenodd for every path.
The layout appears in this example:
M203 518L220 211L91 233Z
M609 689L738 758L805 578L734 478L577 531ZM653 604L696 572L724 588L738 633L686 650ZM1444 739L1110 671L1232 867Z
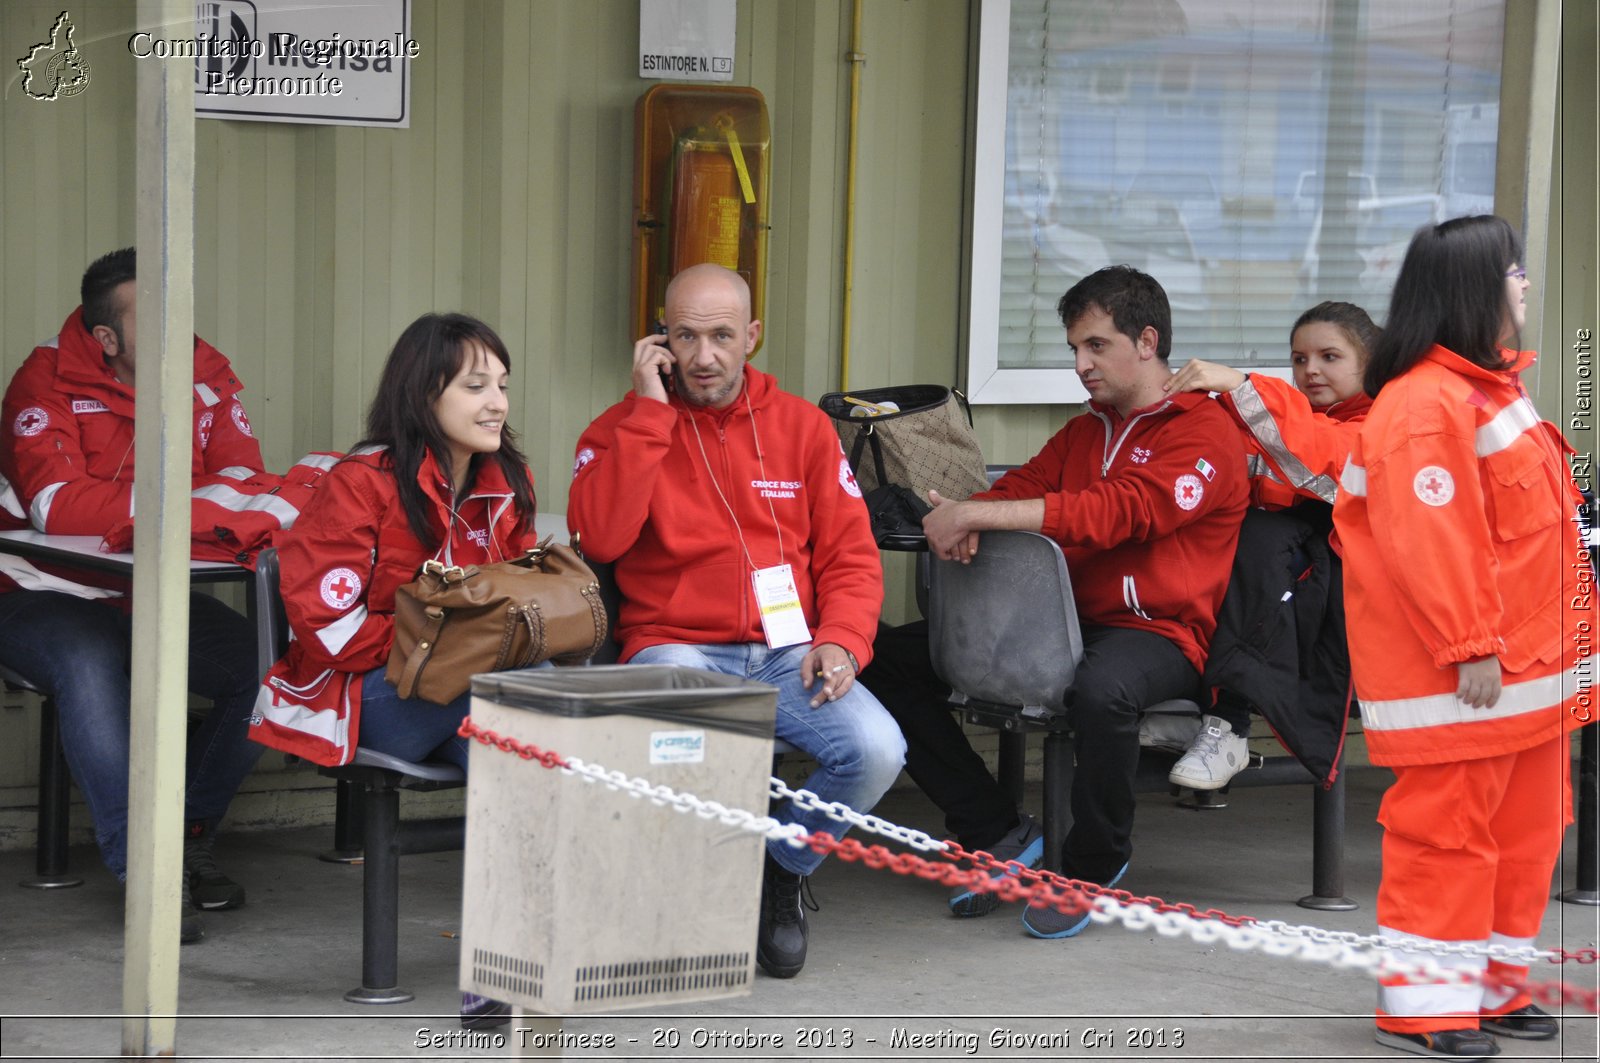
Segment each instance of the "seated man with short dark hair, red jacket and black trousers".
M923 530L934 556L960 562L978 552L982 530L1042 532L1061 543L1083 623L1083 663L1067 695L1078 768L1061 866L1074 879L1110 885L1133 855L1139 712L1200 693L1250 487L1227 413L1205 394L1162 389L1171 376L1162 285L1109 266L1067 290L1056 309L1090 392L1088 413L989 491L966 501L934 493ZM917 770L925 757L966 765L946 770L934 783L939 792L930 794L952 823L973 828L963 845L1040 863L1037 828L1018 816L976 756L960 756L971 751L944 706L883 696L906 728L907 765L918 781L941 778ZM952 751L954 743L962 746ZM966 916L994 905L990 893L966 890L950 900ZM1027 908L1022 925L1038 938L1067 938L1088 925L1088 914Z

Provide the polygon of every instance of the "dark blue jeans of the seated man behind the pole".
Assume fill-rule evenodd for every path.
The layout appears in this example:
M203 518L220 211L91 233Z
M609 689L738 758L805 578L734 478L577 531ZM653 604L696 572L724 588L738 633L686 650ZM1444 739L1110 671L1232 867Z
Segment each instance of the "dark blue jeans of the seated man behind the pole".
M101 860L128 871L128 658L133 618L56 591L0 594L0 664L54 698L61 748L94 820ZM189 596L189 690L211 700L189 736L184 820L214 828L261 756L250 711L256 631L208 594Z

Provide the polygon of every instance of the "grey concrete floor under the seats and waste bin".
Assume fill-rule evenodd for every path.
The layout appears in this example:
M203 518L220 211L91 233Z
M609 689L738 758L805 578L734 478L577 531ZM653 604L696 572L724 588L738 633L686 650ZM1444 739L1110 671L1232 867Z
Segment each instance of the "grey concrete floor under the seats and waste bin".
M1123 887L1259 919L1370 933L1378 882L1374 824L1387 773L1350 772L1349 913L1294 906L1310 887L1310 791L1240 789L1230 807L1189 812L1165 794L1141 799L1133 869ZM1030 807L1037 807L1037 792ZM878 808L939 832L931 805L894 791ZM206 914L206 940L181 951L178 1047L189 1060L493 1058L456 1023L461 853L403 860L400 980L416 993L395 1009L346 1004L358 981L360 868L315 860L322 829L226 834L222 866L250 890L248 906ZM90 848L72 852L88 882L59 892L13 885L32 853L0 853L0 1057L107 1058L118 1052L122 895ZM1574 839L1557 889L1573 884ZM640 906L670 882L638 880ZM1019 911L952 919L941 887L829 860L814 877L811 954L794 981L758 975L747 996L565 1021L571 1036L613 1037L614 1049L566 1058L1410 1058L1373 1041L1370 977L1304 961L1235 953L1190 938L1093 925L1067 941L1022 935ZM1552 903L1542 946L1594 948L1597 909ZM1595 965L1534 972L1597 989ZM926 1041L894 1047L894 1029ZM427 1033L421 1033L427 1031ZM797 1047L818 1031L819 1047ZM1070 1047L1027 1047L1026 1034L1070 1034ZM1130 1047L1146 1031L1146 1047ZM747 1034L782 1036L750 1049ZM976 1050L965 1049L976 1037ZM997 1044L994 1037L1000 1037ZM438 1037L438 1041L432 1041ZM722 1047L714 1039L722 1037ZM1181 1039L1181 1044L1179 1044ZM669 1047L677 1044L675 1049ZM848 1041L848 1045L846 1045ZM710 1042L710 1044L707 1044ZM1165 1042L1165 1049L1162 1047ZM770 1042L768 1042L770 1044ZM1573 1012L1555 1042L1504 1042L1501 1058L1597 1058L1597 1020Z

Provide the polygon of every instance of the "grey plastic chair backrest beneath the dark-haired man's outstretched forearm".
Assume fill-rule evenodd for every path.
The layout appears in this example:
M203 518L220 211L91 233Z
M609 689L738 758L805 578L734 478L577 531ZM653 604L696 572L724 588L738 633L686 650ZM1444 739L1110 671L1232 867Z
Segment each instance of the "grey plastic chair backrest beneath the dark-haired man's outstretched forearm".
M933 671L976 701L1056 712L1083 660L1067 560L1035 532L982 532L970 565L934 559Z

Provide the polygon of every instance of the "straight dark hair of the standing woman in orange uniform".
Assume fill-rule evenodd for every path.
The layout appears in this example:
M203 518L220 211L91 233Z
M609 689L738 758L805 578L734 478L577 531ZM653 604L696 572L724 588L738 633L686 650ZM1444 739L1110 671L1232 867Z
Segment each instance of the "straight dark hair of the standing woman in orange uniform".
M1424 226L1400 263L1389 320L1366 362L1366 392L1406 373L1434 344L1474 365L1506 365L1506 269L1522 261L1522 240L1504 218L1477 215Z

